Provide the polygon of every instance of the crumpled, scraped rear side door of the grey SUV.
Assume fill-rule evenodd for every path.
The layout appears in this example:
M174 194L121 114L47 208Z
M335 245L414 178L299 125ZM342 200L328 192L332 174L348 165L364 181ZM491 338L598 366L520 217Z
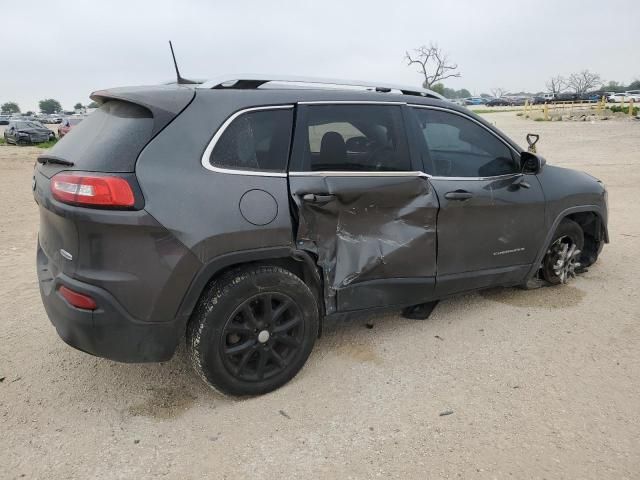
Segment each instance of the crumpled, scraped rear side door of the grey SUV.
M349 171L339 162L332 164L333 169L325 165L326 170L305 171L305 163L299 158L308 157L310 148L304 113L302 109L302 120L299 118L296 124L298 138L292 153L289 185L297 218L297 246L314 254L322 269L327 313L430 300L436 274L438 201L427 176L417 169L411 170L414 165L409 158L406 171ZM369 115L366 109L343 113L351 126L333 122L335 112L321 111L318 114L321 119L310 122L324 128L322 146L316 150L334 148L327 145L333 141L329 137L335 137L338 147L332 150L331 161L342 156L351 162L351 167L346 168L353 168L354 158L361 161L362 157L350 156L349 148L357 150L358 144L365 145L376 133L359 120L361 115ZM386 118L383 113L371 111L371 116L379 115L378 123L382 124ZM400 123L402 115L393 113L396 123ZM325 124L319 123L322 121ZM384 158L393 157L394 165L398 166L397 155L408 156L408 149L401 148L400 142L404 140L398 137L398 132L392 134L391 125L385 128L384 138L392 140L389 140L391 147L384 148L394 148L396 156L385 154ZM335 133L347 137L346 154L342 147L344 138L337 138ZM354 137L349 135L366 136L368 140L350 141ZM314 150L313 139L311 144ZM322 161L328 161L327 155L316 153ZM311 156L316 153L312 151ZM307 162L310 168L308 165ZM379 162L376 165L387 168Z

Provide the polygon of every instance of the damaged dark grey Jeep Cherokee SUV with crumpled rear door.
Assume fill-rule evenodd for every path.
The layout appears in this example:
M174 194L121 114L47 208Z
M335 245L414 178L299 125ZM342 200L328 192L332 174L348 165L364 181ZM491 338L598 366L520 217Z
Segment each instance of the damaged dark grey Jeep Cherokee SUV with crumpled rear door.
M328 320L564 283L608 242L599 180L428 90L255 76L91 98L35 168L47 314L122 362L186 336L227 394L289 381Z

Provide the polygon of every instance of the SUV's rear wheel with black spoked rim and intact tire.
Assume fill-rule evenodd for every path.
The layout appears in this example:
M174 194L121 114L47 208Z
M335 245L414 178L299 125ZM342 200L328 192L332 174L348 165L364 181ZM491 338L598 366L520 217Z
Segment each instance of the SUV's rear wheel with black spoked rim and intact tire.
M241 267L205 289L187 328L187 348L196 372L215 390L260 395L296 376L318 325L316 299L300 278L276 266Z

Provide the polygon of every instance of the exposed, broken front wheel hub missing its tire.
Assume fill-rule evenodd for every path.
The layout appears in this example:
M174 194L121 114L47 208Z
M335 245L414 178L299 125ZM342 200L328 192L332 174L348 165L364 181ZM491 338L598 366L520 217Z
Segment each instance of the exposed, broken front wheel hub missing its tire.
M575 270L580 267L578 260L583 248L584 232L580 225L568 218L562 220L542 259L542 278L551 285L559 285L566 283L570 277L575 277ZM557 267L559 261L560 273Z

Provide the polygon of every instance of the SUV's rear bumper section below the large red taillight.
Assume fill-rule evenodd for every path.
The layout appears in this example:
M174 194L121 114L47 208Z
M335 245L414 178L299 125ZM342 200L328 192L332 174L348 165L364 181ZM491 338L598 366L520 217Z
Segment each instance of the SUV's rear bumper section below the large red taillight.
M113 360L170 358L188 317L178 313L181 302L202 264L144 210L63 205L50 198L46 178L37 183L38 279L60 336ZM72 306L61 286L90 296L97 308Z

